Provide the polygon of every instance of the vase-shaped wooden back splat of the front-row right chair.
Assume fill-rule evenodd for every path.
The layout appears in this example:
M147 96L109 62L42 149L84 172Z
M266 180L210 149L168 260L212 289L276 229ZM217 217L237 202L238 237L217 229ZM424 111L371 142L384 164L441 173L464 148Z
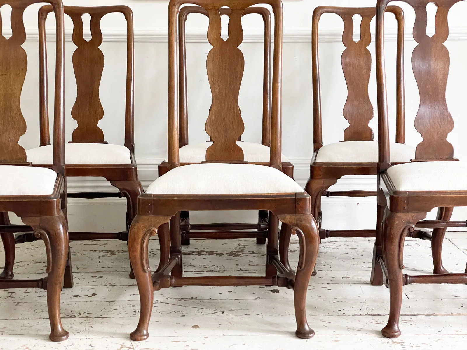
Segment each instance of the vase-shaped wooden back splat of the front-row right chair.
M417 145L415 158L451 159L454 157L454 148L446 139L454 128L454 121L446 104L450 58L444 42L449 35L447 14L458 0L438 1L436 33L432 37L426 34L426 5L431 1L407 2L415 10L413 38L418 45L412 53L412 70L420 94L415 129L423 138Z

